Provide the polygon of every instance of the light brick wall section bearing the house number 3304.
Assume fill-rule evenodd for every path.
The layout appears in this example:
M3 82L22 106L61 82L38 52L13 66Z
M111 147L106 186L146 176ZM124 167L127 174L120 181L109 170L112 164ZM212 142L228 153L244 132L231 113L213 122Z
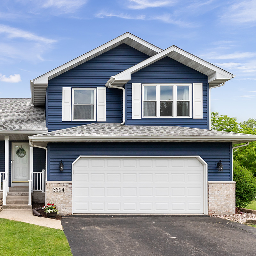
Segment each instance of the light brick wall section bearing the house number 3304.
M64 192L54 192L57 188L64 188ZM55 203L60 215L70 215L72 213L72 184L52 183L45 184L45 203Z

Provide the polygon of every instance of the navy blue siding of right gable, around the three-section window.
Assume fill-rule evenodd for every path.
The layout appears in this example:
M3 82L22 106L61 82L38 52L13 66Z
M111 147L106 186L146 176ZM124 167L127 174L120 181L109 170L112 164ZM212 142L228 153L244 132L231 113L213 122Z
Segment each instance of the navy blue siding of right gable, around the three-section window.
M142 118L132 119L132 83L169 84L169 83L203 83L203 119L193 118ZM208 76L189 68L176 60L165 57L146 68L132 74L125 85L126 113L125 125L178 125L185 127L209 129L209 86ZM143 103L142 103L143 104ZM193 109L193 108L192 108Z

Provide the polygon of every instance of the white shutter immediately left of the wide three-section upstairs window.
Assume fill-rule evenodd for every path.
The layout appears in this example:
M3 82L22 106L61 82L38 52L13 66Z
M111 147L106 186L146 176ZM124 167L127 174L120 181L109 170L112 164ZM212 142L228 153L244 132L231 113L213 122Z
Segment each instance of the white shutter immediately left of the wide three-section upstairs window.
M141 119L141 84L132 84L132 119Z

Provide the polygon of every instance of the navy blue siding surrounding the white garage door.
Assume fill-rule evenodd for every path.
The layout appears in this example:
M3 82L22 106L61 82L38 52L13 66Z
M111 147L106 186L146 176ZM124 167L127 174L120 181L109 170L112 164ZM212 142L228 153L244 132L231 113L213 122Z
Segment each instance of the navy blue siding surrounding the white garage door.
M209 181L232 180L232 143L48 143L48 180L70 181L71 165L79 156L201 156ZM224 171L216 162L222 160ZM64 172L59 171L60 161Z

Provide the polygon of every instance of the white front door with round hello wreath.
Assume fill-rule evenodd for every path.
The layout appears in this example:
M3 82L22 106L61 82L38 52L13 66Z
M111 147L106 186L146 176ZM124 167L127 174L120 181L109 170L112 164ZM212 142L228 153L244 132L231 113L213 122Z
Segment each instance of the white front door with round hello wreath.
M28 142L12 142L12 186L27 185L26 183L28 183L28 180L29 180Z

